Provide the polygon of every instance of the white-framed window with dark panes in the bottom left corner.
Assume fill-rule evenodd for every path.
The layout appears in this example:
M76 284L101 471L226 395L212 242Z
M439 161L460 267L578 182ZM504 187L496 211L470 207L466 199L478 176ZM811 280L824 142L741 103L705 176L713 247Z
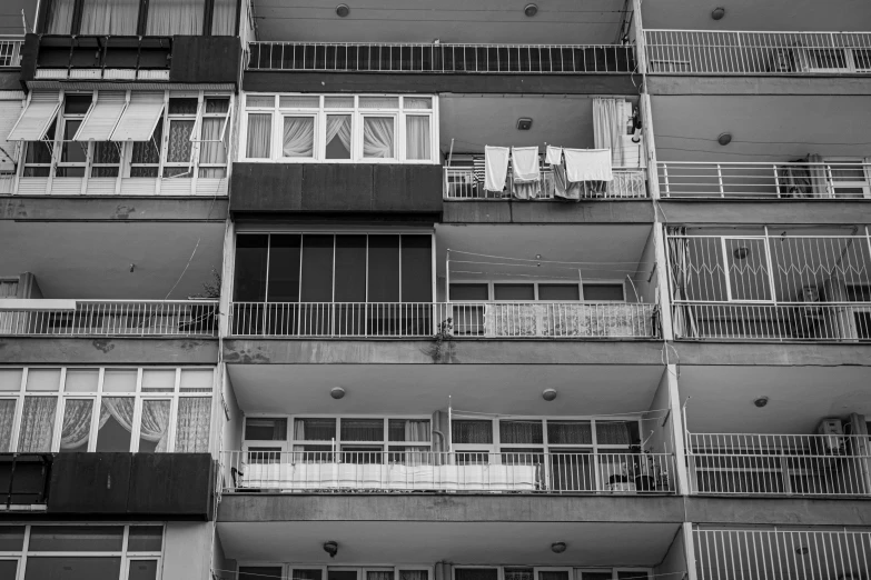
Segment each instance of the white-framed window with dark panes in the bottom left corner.
M162 526L0 526L0 551L14 558L0 559L0 578L21 566L23 580L158 580L162 547Z

